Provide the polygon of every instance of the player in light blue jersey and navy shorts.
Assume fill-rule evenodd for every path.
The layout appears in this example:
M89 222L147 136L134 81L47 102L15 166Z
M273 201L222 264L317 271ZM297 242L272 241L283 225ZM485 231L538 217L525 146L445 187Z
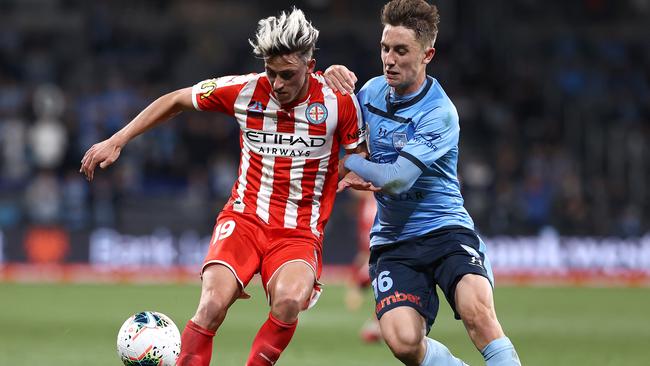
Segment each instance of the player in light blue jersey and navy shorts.
M438 286L488 366L521 365L496 317L485 244L463 207L458 112L426 74L438 22L437 8L424 0L393 0L382 9L384 73L358 93L369 160L347 157L352 173L339 189L380 188L370 277L381 333L396 358L406 365L464 364L425 336L438 312ZM342 66L325 75L338 88L356 81Z

